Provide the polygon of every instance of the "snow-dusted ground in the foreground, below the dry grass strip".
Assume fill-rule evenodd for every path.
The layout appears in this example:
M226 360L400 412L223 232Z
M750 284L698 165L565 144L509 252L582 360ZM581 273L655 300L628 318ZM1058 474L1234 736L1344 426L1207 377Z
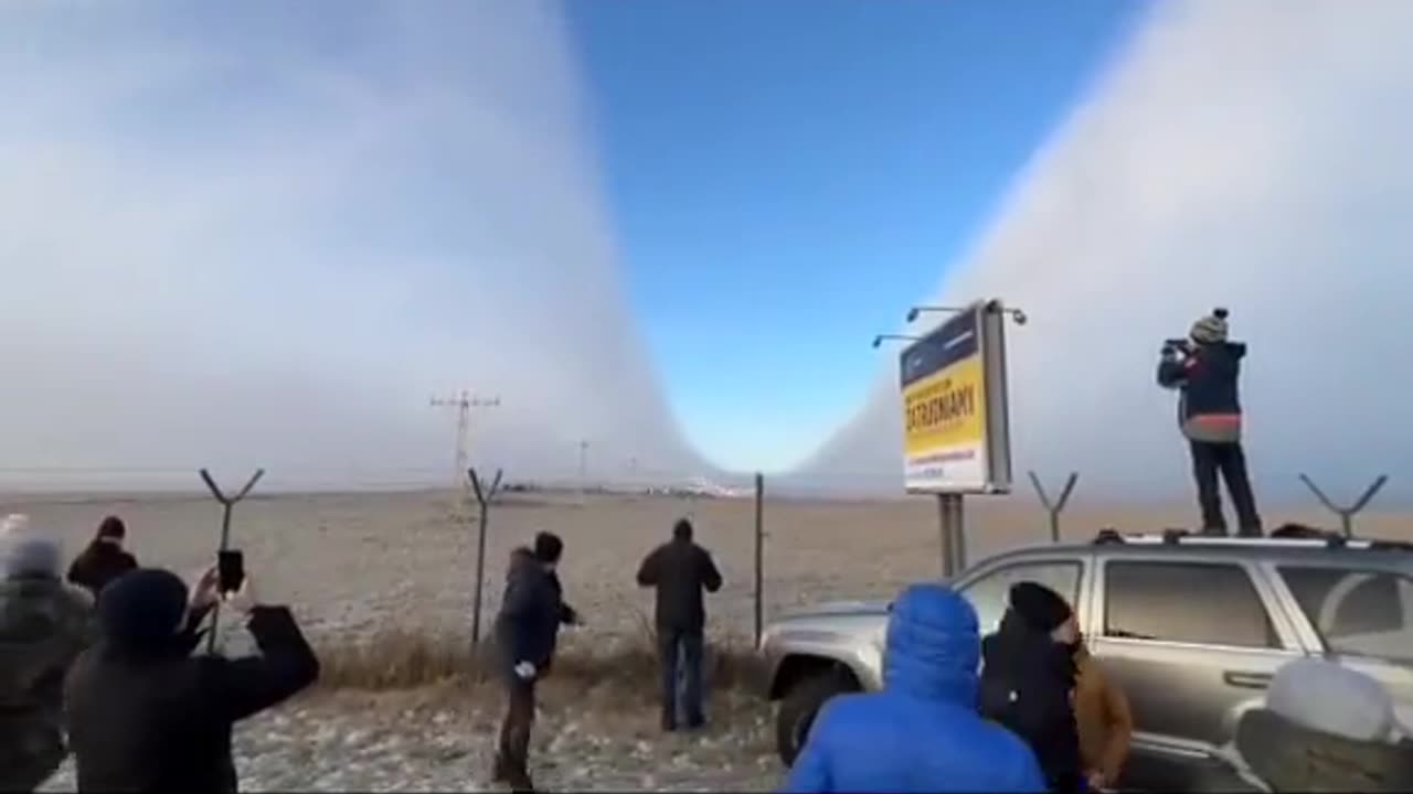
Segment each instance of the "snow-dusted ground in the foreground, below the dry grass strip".
M764 791L780 783L767 711L739 695L698 733L663 735L656 712L545 687L531 774L551 791ZM242 723L242 791L499 791L493 687L315 694ZM608 706L608 708L601 708ZM72 791L72 764L42 791Z

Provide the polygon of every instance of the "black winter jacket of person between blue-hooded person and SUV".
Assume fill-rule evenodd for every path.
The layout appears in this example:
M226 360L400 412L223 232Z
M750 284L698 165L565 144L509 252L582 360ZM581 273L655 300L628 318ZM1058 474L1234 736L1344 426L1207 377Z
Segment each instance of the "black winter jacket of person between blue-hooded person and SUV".
M1078 791L1082 776L1070 648L1007 610L982 640L981 712L1030 745L1051 791Z

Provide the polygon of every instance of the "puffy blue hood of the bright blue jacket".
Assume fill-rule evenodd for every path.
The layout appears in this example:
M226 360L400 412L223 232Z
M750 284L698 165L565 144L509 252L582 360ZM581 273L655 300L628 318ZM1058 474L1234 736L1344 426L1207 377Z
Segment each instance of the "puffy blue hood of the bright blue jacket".
M893 602L883 687L975 706L981 640L976 610L944 585L913 585Z

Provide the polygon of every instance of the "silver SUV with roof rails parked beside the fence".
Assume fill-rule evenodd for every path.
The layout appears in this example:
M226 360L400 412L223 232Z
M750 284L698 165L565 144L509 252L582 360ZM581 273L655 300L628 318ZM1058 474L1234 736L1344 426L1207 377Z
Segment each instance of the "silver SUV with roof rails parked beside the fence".
M1249 788L1222 749L1272 674L1303 656L1373 675L1413 725L1413 544L1105 530L1089 544L992 557L954 586L985 634L1020 581L1074 605L1089 651L1128 694L1135 735L1125 787ZM886 624L887 603L838 602L766 629L762 688L780 702L786 764L828 698L882 687Z

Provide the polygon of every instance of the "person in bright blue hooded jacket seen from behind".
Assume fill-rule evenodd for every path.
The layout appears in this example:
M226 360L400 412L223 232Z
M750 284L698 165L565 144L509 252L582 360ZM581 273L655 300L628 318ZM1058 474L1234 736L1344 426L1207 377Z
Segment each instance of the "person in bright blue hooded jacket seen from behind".
M1030 747L976 708L976 612L944 585L893 602L883 691L820 709L784 793L1046 791Z

